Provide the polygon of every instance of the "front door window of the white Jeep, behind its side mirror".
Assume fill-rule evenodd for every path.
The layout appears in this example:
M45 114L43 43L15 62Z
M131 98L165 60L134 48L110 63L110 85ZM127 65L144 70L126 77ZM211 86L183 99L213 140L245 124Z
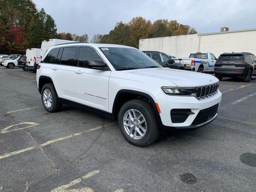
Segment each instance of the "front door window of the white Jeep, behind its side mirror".
M98 53L90 47L80 47L79 51L79 57L78 57L78 66L79 67L89 67L88 62L89 61L95 61L95 60L100 60L100 56Z

